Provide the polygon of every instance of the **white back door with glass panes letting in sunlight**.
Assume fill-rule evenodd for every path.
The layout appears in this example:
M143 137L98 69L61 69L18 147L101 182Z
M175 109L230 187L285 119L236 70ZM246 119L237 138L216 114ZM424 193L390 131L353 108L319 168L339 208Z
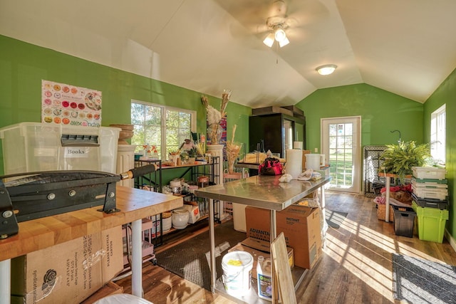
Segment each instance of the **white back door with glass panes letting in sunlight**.
M321 152L329 164L329 189L361 191L361 117L321 119Z

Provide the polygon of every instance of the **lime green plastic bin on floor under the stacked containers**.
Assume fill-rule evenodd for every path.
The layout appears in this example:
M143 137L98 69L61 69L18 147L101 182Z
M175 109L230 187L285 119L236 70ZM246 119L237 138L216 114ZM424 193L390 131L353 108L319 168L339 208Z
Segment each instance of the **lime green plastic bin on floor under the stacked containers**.
M449 216L448 210L420 207L415 201L412 201L412 208L417 214L420 240L442 243L445 224Z

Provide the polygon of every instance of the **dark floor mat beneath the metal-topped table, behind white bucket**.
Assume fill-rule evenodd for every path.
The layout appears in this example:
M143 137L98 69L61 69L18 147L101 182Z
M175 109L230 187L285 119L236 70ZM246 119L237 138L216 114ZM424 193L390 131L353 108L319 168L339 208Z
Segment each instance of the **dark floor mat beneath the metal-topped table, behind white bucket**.
M229 248L246 239L244 232L235 231L233 221L215 227L215 265L217 278L222 276L222 257ZM157 264L192 283L210 291L209 231L158 253Z

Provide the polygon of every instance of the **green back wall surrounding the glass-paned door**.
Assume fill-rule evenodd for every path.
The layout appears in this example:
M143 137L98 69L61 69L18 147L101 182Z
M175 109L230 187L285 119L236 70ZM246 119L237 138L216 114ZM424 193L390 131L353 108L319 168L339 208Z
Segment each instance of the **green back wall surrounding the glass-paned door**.
M371 85L346 85L317 90L297 105L306 115L306 147L320 151L320 120L361 116L361 145L402 140L423 142L423 105Z

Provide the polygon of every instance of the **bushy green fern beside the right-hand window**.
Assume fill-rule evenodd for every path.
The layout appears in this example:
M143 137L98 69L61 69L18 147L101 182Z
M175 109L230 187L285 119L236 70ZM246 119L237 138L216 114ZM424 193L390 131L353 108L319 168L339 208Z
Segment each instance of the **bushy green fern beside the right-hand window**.
M413 167L423 167L430 158L430 145L417 145L414 141L398 142L397 145L386 145L380 155L383 164L380 170L397 174L403 182L405 175L413 173Z

